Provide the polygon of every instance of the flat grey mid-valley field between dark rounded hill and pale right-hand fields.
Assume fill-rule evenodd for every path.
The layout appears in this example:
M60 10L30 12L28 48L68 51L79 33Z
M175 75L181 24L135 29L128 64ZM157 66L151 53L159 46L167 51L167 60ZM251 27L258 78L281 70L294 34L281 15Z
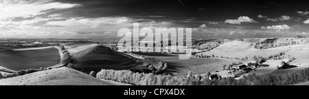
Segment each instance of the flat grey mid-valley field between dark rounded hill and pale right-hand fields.
M178 55L164 54L164 53L135 53L145 55L148 57L155 57L156 59L168 63L168 70L176 76L184 76L188 71L193 74L205 74L207 72L215 72L222 68L223 64L229 64L238 60L219 59L219 58L195 58L179 59Z

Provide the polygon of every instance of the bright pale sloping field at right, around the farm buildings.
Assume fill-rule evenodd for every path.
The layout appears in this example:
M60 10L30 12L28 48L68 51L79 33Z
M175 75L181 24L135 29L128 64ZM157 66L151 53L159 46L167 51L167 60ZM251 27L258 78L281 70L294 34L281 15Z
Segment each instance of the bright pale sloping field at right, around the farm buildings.
M255 74L280 74L280 73L288 73L295 72L297 70L301 70L304 68L309 68L309 44L297 44L292 46L279 46L275 48L267 48L267 49L255 49L254 42L242 42L242 41L232 41L227 42L214 48L209 52L198 53L198 55L216 55L223 57L238 57L243 58L246 56L259 55L262 57L268 57L270 55L275 55L280 52L286 51L285 55L282 55L284 59L270 59L264 62L265 64L270 65L268 68L257 68L250 73ZM289 57L295 57L296 59L289 63L289 68L277 70L276 66L280 61L288 61ZM249 61L244 61L249 62ZM251 61L254 62L254 61ZM249 73L249 74L250 74ZM226 74L226 72L222 71L219 74Z

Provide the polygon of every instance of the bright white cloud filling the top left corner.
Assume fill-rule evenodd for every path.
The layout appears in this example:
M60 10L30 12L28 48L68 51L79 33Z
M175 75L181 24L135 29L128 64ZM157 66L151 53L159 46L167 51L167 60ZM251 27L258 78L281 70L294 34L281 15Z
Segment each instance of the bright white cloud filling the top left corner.
M76 8L80 4L60 3L52 0L2 0L0 1L0 20L30 18L47 14L53 10Z

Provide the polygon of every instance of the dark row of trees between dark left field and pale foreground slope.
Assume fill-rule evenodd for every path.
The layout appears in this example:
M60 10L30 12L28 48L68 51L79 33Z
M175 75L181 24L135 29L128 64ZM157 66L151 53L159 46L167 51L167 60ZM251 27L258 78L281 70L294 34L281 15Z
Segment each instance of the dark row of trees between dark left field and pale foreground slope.
M45 69L43 68L40 68L40 69L34 69L34 68L31 68L31 69L28 69L28 70L19 70L19 71L16 71L16 72L13 72L12 74L1 74L0 73L0 79L6 79L6 78L10 78L10 77L14 77L14 76L21 76L21 75L24 75L24 74L30 74L30 73L33 73L33 72L38 72L38 71L43 71Z

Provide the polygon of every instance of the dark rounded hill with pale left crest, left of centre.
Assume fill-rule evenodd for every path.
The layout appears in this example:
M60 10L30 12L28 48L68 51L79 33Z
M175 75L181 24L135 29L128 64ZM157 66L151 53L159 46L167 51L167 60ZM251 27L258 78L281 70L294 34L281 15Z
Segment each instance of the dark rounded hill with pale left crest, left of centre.
M99 44L69 44L65 46L73 55L73 63L85 71L99 71L104 69L128 70L141 68L141 61L130 55L119 53L111 48Z

